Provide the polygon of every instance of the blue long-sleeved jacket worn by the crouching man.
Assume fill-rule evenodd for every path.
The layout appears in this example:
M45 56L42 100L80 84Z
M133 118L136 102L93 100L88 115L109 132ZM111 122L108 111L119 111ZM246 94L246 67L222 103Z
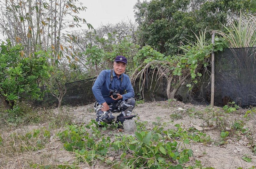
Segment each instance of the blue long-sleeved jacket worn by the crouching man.
M110 85L110 73L111 70L102 70L100 75L97 77L94 85L92 86L92 92L94 94L95 99L99 104L107 102L107 104L117 102L118 100L113 100L111 97L108 96L109 89L116 89L119 91L121 85L121 76L123 77L122 86L120 89L120 94L123 96L123 100L133 98L134 97L134 90L130 81L130 78L126 74L122 74L119 78L117 78L115 71L113 71L113 81ZM126 94L124 93L126 90Z

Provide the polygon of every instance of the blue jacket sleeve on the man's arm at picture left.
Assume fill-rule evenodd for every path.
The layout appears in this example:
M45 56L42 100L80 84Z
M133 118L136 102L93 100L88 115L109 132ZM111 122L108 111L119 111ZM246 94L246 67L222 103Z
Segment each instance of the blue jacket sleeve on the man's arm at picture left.
M101 87L106 81L106 71L102 70L92 86L92 92L99 104L106 102L101 94Z

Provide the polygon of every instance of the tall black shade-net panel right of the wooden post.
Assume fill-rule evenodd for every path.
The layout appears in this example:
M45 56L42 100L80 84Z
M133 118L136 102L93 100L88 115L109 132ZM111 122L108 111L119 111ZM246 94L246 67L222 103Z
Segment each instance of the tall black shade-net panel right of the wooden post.
M228 48L215 54L216 106L234 101L256 106L256 48Z

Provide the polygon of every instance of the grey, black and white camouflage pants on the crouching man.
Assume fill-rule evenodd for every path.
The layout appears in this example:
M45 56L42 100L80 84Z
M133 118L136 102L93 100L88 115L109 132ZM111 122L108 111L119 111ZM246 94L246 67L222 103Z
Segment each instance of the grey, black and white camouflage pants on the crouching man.
M101 111L101 108L103 106L95 102L94 110L97 116L96 121L98 121L99 124L100 124L100 121L110 123L115 119L115 116L113 115L113 113L121 112L121 114L119 114L116 117L116 123L120 121L123 124L124 116L131 115L132 113L132 110L135 106L135 99L129 98L126 100L119 100L118 102L111 103L108 106L109 106L108 111Z

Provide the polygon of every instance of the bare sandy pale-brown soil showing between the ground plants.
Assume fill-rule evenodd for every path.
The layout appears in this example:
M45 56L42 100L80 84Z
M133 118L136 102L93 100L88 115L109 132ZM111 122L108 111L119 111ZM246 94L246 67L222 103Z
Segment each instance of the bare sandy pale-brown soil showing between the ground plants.
M256 142L256 114L250 116L249 119L244 118L247 109L239 109L237 112L230 113L227 119L229 129L232 122L235 120L242 120L245 123L244 128L248 128L251 135L245 136L237 131L236 134L228 136L226 143L220 144L220 129L214 123L207 126L207 121L210 123L211 118L209 114L206 115L205 109L209 107L184 104L179 101L173 102L151 102L137 105L133 114L137 115L137 121L148 121L148 129L152 127L152 122L163 124L166 123L166 128L175 128L174 125L182 124L183 128L189 129L192 125L206 128L202 130L212 139L210 144L190 143L187 148L191 148L194 153L194 158L191 160L200 160L204 167L213 167L215 169L243 169L250 168L256 165L256 155L252 152L252 147L249 143ZM220 109L220 110L218 110ZM214 107L214 111L223 111L221 107ZM61 113L58 109L54 109L55 114ZM74 114L73 122L76 124L88 123L91 119L95 119L93 104L82 107L69 107L69 113ZM118 114L115 114L116 116ZM171 116L170 116L171 115ZM3 140L10 139L11 133L26 133L33 129L40 129L42 127L49 128L49 122L43 124L33 124L27 126L20 126L19 128L12 128L5 126L0 130ZM0 152L0 168L32 168L31 164L72 164L75 160L75 154L65 151L63 143L58 138L54 138L57 131L64 130L64 127L52 129L51 139L47 147L40 151L32 151L29 153L19 153L12 155L8 154L10 151ZM112 135L120 132L113 131ZM251 140L250 140L251 139ZM251 162L246 162L242 159L244 156L251 158ZM81 163L79 168L108 168L106 164L95 161L93 165Z

